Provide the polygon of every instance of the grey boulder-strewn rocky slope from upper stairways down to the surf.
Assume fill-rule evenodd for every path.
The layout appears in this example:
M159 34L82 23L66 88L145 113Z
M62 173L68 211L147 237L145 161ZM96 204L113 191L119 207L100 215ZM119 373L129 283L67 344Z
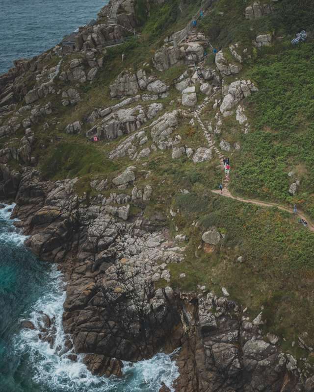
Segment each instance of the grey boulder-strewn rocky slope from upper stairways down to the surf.
M282 352L276 335L262 330L262 314L253 320L227 298L225 288L220 296L205 286L188 292L171 283L171 266L189 258L191 249L193 263L199 243L186 245L186 235L172 227L180 211L169 208L174 192L191 193L191 182L183 182L183 176L183 185L172 182L159 191L164 173L172 168L179 172L180 165L193 170L210 164L214 176L213 168L220 170L214 137L225 134L232 116L242 134L249 132L243 102L259 89L248 77L237 77L251 55L235 44L219 50L209 64L204 34L177 48L168 34L151 58L136 69L126 64L103 85L110 56L104 57L101 44L139 25L135 6L135 1L121 4L118 25L103 23L108 5L97 25L80 28L75 53L63 57L51 83L49 75L58 71L59 58L52 55L57 48L16 62L0 77L0 198L16 203L13 216L29 236L26 245L59 263L65 274L63 325L69 358L85 353L93 374L121 376L121 361L182 347L175 357L178 392L314 391L314 380L301 374L297 359ZM153 11L156 6L150 3ZM254 3L243 19L271 10ZM268 37L256 41L258 47L270 42ZM115 58L121 62L122 55ZM106 88L102 100L89 95L94 88L95 95ZM210 146L201 132L195 135L194 109L203 110ZM92 145L94 137L98 142ZM48 169L53 177L54 166L57 173L58 157L63 156L47 159L66 141L73 149L77 143L100 151L106 158L101 171L92 172L92 162L88 175L72 175L79 164L69 156L63 179L43 179ZM224 138L219 147L229 154L241 148L237 140ZM116 164L112 172L106 172L109 162ZM158 173L160 162L166 165L163 174ZM202 233L199 252L224 246L225 234L218 229L212 225ZM53 328L47 328L43 339L53 339Z

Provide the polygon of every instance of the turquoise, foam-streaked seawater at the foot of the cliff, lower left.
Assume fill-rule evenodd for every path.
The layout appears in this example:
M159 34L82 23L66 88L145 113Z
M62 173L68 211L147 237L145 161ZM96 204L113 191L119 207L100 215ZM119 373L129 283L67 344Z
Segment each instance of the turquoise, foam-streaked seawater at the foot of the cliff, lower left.
M179 372L172 355L125 363L121 378L92 376L83 354L77 362L68 359L61 273L26 248L11 209L0 209L0 392L158 392L161 382L173 391ZM52 343L38 337L45 315L52 320ZM25 319L35 329L23 328Z

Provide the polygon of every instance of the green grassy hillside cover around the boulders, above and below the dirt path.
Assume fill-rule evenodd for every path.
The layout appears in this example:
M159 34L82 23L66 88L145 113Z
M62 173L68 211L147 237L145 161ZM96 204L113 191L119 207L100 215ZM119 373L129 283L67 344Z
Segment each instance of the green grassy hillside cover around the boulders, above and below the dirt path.
M225 139L231 145L236 142L241 147L229 153L232 166L229 189L235 196L285 206L297 203L298 208L314 222L313 1L281 0L274 3L264 0L263 3L271 5L272 12L258 19L245 20L245 8L253 2L233 0L232 5L228 0L213 2L209 16L200 23L200 30L215 48L223 50L228 61L235 60L229 50L229 46L235 43L239 53L246 49L250 56L241 63L239 74L224 78L225 84L251 79L259 88L259 92L241 102L250 123L248 133L244 134L232 114L223 119L221 132L213 135L215 146ZM109 85L117 75L127 68L131 72L143 67L146 70L152 68L152 56L163 45L164 38L182 29L201 2L183 1L182 12L180 3L179 0L170 0L160 6L151 4L148 9L146 1L138 1L136 9L142 24L141 38L107 49L104 65L92 83L76 87L76 82L55 80L56 91L75 87L81 100L76 105L64 107L60 96L54 94L36 102L44 105L51 101L53 113L32 126L36 138L32 154L38 158L45 179L78 176L76 190L79 194L86 192L91 199L99 194L91 188L91 180L108 178L111 184L112 178L128 166L135 166L135 185L140 189L145 185L153 188L145 217L150 219L159 213L165 218L172 237L178 233L187 237L181 244L186 246L184 261L169 264L170 284L196 292L198 286L205 285L207 290L214 290L219 295L224 286L232 299L243 307L248 306L251 319L260 313L263 305L265 331L278 334L281 344L291 353L306 356L308 353L297 344L292 347L291 343L297 341L301 333L308 332L307 338L302 339L314 346L314 234L298 223L298 216L276 207L260 207L212 194L210 190L217 189L223 177L216 154L209 162L194 163L185 154L172 159L171 150L157 149L139 161L131 161L129 156L113 161L108 159L108 153L130 135L95 144L84 136L84 132L92 127L84 122L88 113L119 102L109 95ZM303 29L308 33L307 42L292 46L290 40ZM271 46L256 49L252 40L267 33L272 36ZM208 45L204 44L204 49L209 53ZM61 71L75 57L79 55L66 56ZM55 64L53 58L50 67ZM214 55L208 56L207 65L215 67ZM86 62L84 66L88 67ZM176 78L187 68L180 64L165 72L154 71L158 79L171 86L169 96L158 99L163 104L159 116L182 109L185 117L179 116L179 125L173 135L181 137L182 146L196 149L207 147L207 141L201 127L196 122L190 123L192 111L178 101L182 95L174 88ZM197 93L199 101L205 98L199 86ZM220 91L216 98L223 98ZM151 103L140 100L130 107L141 104L146 110ZM20 106L24 104L22 102ZM205 124L212 121L219 110L212 106L213 102L202 112L201 119ZM83 123L83 132L66 134L65 126L78 120ZM49 127L45 126L46 123ZM1 145L4 147L8 143L8 146L19 147L24 134L24 129L18 130L16 139L3 138ZM147 136L145 146L150 146L149 131ZM11 160L9 165L20 169L16 161ZM288 176L291 171L294 172L293 178ZM292 197L288 189L296 179L300 186ZM131 195L131 190L129 187L123 193ZM108 196L110 192L121 191L112 186L101 193ZM131 208L131 216L141 211L138 205ZM172 217L170 209L179 212ZM223 234L224 240L220 244L204 246L202 234L210 229ZM243 263L237 261L239 256L243 257ZM182 273L185 278L179 278Z

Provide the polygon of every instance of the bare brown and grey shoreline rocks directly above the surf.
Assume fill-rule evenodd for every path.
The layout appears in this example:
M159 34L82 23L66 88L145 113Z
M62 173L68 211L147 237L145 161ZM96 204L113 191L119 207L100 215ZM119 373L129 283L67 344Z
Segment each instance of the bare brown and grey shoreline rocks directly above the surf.
M175 356L178 392L312 390L312 379L299 378L296 360L266 341L235 302L154 287L170 277L168 263L184 258L161 217L147 221L140 213L123 221L105 207L86 206L73 192L75 181L42 181L38 171L25 170L13 212L29 236L26 245L65 273L71 359L86 353L93 374L120 376L121 360L182 347ZM72 348L70 339L67 344Z

